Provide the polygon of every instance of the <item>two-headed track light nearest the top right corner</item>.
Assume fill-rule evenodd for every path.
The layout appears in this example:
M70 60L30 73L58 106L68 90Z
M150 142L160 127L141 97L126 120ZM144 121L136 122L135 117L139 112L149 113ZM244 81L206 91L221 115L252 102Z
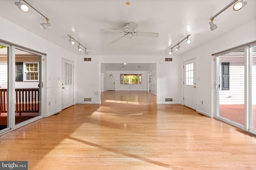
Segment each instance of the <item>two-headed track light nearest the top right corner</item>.
M213 23L213 20L214 20L214 18L216 17L216 16L218 16L219 14L221 14L223 11L225 11L228 7L230 7L230 6L232 6L233 4L234 4L234 6L233 6L233 10L234 11L238 11L238 10L240 10L240 9L242 9L244 6L246 6L246 4L247 4L247 2L245 2L245 1L243 1L243 0L241 0L241 1L239 1L239 2L237 2L238 0L233 0L230 4L228 4L225 8L223 8L220 12L218 12L215 16L213 16L210 20L210 22L209 22L209 24L210 24L210 29L211 29L211 31L212 30L214 30L214 29L216 29L218 26L216 25L216 24L214 24Z

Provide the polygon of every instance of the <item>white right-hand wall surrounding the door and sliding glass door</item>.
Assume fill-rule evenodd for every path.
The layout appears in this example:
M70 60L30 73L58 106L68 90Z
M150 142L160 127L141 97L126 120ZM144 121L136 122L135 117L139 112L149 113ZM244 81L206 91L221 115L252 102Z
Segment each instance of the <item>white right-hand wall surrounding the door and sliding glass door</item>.
M217 28L214 31L218 31ZM209 34L212 33L209 29ZM217 53L244 43L256 40L256 20L249 21L229 32L216 37L216 39L209 43L202 44L200 47L182 55L180 70L183 72L182 65L184 61L189 59L197 59L197 106L196 110L200 113L214 117L215 111L215 65L213 53ZM183 78L183 77L181 77ZM180 83L183 88L183 84ZM181 90L183 94L183 90ZM182 95L183 96L183 95ZM204 101L201 104L201 101ZM183 102L183 100L181 100Z

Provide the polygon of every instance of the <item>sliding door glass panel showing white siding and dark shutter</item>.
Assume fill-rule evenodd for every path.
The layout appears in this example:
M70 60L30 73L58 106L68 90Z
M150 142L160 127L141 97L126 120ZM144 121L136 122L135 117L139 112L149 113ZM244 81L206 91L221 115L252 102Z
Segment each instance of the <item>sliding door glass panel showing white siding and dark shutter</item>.
M244 49L219 56L219 115L244 125Z

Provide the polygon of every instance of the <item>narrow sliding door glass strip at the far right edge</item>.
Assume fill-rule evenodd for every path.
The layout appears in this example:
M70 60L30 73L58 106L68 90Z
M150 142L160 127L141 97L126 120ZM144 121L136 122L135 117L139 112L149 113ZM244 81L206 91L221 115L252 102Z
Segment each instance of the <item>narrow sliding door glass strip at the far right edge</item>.
M251 129L256 130L256 46L252 47L251 50L252 52L251 57L252 57L252 72L251 72L251 82L252 82L252 115L251 115Z

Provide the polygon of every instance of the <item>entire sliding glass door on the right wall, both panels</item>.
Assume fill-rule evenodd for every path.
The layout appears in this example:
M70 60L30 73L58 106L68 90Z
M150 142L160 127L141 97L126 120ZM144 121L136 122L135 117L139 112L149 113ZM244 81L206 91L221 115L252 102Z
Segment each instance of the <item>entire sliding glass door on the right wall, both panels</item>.
M256 45L218 55L216 118L256 134Z

